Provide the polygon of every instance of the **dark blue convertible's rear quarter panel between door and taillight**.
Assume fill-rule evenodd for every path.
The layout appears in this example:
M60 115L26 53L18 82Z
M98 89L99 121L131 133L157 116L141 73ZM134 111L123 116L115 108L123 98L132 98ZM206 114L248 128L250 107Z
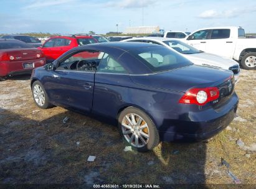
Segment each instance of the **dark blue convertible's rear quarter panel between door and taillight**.
M93 113L116 119L121 110L134 106L145 111L158 127L163 121L162 114L177 118L179 108L183 107L176 104L183 94L138 86L129 75L96 73Z

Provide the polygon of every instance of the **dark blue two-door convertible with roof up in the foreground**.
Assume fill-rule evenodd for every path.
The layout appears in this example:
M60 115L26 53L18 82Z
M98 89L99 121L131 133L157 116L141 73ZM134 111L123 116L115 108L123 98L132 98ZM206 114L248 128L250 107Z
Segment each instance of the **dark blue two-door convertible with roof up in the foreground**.
M31 88L39 108L62 106L118 121L125 141L141 152L159 141L214 136L234 119L239 101L231 71L136 42L73 48L35 69Z

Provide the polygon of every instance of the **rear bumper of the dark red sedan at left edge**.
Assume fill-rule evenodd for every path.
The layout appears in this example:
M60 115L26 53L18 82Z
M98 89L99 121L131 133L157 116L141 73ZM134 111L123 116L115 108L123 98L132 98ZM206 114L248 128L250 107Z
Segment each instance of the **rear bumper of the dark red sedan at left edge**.
M34 68L42 67L43 65L45 65L45 58L15 62L2 61L0 62L0 76L21 75L31 73L31 71L34 68L24 68L24 63L34 63Z

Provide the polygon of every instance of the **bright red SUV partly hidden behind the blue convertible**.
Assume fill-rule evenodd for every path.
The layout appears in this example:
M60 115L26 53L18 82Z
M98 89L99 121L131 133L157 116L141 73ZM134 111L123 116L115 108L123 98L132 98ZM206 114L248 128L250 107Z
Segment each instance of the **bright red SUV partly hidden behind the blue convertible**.
M46 40L44 45L39 47L39 49L44 52L48 63L59 58L60 55L73 47L95 43L97 43L97 40L88 35L57 36Z

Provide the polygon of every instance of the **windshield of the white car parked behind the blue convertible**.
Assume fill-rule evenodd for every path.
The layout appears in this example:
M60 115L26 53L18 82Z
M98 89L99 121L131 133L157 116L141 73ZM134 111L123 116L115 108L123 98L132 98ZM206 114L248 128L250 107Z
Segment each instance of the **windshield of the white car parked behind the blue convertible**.
M196 53L201 53L201 50L197 50L194 47L191 47L190 45L187 45L179 40L166 40L163 41L164 44L169 45L171 48L176 50L179 53L183 54L196 54Z

